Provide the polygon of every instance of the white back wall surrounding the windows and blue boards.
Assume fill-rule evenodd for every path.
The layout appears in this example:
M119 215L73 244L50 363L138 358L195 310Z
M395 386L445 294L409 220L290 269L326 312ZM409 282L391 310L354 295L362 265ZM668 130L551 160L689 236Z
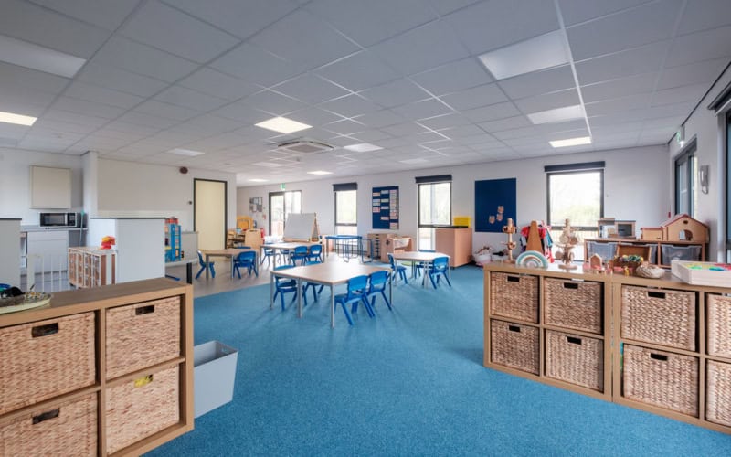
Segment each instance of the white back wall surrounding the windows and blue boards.
M518 225L531 220L546 219L546 173L544 165L578 162L606 162L604 174L604 214L608 217L637 221L637 228L657 227L667 218L671 200L667 189L669 176L663 164L667 163L667 148L648 146L618 149L599 153L565 154L535 159L492 162L447 168L415 170L383 175L363 175L320 181L286 183L287 191L302 191L302 212L317 213L320 231L334 232L334 183L358 183L358 233L365 235L371 229L371 189L374 186L399 186L400 228L398 233L416 237L417 186L415 176L452 175L452 215L469 216L474 220L474 182L483 179L517 178ZM249 197L263 197L264 213L269 211L269 193L279 192L279 185L238 188L238 214L250 215ZM268 221L260 227L267 228ZM474 227L474 222L471 224ZM384 231L384 230L376 230ZM472 245L501 246L502 234L476 233Z

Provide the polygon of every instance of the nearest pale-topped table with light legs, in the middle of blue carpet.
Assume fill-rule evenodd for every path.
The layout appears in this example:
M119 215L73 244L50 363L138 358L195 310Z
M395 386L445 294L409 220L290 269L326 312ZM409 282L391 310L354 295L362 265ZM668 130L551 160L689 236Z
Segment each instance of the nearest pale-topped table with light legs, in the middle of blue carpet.
M281 271L272 271L270 277L270 309L274 308L274 282L276 277L297 280L297 317L302 317L302 282L315 282L330 286L330 326L335 328L335 292L337 284L344 284L349 279L362 274L369 275L376 271L391 271L390 267L376 267L358 263L317 263L302 267L288 268ZM393 303L393 286L388 282L388 299Z

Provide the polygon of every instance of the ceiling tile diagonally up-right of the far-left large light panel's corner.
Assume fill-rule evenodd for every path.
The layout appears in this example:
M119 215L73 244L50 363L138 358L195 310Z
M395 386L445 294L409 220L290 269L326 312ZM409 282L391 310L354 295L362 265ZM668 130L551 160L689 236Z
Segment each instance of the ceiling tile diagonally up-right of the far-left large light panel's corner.
M179 80L197 67L184 58L122 37L111 37L91 61L167 82Z

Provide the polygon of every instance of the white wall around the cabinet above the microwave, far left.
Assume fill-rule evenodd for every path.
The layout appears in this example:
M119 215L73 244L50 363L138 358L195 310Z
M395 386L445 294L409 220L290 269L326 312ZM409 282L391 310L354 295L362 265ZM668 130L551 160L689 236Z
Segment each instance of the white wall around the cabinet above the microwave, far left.
M38 225L43 210L30 208L30 166L71 169L71 209L82 207L81 157L0 148L0 218L21 218L21 225Z

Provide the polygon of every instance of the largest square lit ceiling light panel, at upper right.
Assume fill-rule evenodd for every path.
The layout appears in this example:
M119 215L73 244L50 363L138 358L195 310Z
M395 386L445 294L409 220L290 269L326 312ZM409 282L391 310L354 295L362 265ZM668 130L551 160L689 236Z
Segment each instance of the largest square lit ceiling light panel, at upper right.
M504 80L566 64L568 52L563 32L556 30L487 52L480 56L480 60L495 80Z

